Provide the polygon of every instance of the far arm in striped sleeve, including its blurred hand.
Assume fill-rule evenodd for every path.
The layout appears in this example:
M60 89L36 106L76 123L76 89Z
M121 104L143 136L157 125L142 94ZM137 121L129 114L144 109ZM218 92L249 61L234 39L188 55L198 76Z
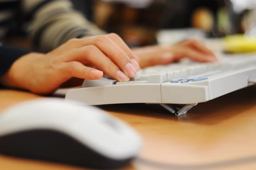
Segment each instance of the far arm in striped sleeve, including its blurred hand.
M40 52L51 51L72 38L104 34L73 9L69 0L32 2L34 1L24 0L23 9L26 16L30 16L28 32ZM214 54L196 40L183 41L169 47L142 47L133 49L133 52L141 58L142 68L168 64L184 57L200 62L216 61Z

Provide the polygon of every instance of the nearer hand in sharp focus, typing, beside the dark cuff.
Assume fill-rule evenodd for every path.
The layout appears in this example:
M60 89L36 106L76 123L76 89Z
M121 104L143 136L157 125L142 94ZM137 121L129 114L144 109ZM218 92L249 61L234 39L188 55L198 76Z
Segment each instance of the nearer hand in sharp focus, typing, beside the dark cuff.
M96 80L104 72L117 81L129 81L139 69L138 57L118 35L109 34L71 39L48 54L24 55L0 81L10 87L48 94L72 77Z

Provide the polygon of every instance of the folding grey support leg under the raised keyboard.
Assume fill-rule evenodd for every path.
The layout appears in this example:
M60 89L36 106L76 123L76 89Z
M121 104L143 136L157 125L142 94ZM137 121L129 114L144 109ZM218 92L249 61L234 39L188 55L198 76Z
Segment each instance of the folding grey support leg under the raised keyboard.
M196 106L197 103L195 104L187 104L184 107L181 107L178 104L164 104L160 103L160 106L164 107L168 111L170 111L172 114L175 116L181 116L187 113L192 107Z

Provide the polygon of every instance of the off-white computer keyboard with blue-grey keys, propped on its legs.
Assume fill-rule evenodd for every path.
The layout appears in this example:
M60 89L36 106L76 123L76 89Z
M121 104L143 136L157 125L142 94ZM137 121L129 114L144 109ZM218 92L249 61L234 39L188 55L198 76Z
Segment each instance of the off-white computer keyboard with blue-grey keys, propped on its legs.
M217 63L183 61L140 70L129 82L110 77L85 80L66 99L89 105L160 104L176 116L197 103L215 99L256 83L256 54L221 54ZM181 107L177 104L185 104Z

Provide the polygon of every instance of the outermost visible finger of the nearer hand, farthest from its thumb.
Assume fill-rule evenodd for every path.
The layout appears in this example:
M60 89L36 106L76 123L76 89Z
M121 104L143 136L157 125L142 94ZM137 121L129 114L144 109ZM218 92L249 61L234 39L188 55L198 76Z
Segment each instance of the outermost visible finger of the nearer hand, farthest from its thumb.
M133 54L133 52L127 46L127 44L117 34L111 33L111 34L108 34L107 37L112 39L120 47L120 49L123 50L128 55L136 71L140 70L140 67L138 64L139 61L137 60L138 58Z

